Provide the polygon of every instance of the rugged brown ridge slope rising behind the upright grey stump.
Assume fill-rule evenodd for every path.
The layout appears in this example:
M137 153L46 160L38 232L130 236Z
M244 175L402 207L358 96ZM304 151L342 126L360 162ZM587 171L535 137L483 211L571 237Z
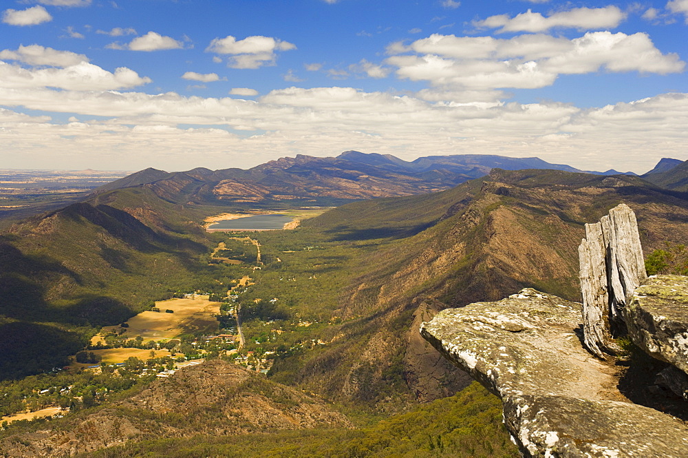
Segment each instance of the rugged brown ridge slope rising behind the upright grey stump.
M378 404L389 395L385 386L399 379L397 388L405 384L407 391L398 393L446 395L464 381L424 343L421 321L524 287L577 301L585 222L626 202L638 216L646 251L663 240L685 240L688 200L675 194L631 176L494 169L450 191L404 198L404 205L398 199L361 202L305 222L342 240L394 240L352 267L359 275L333 313L345 322L323 337L333 344L277 362L275 377L284 379L280 367L298 366L293 382Z

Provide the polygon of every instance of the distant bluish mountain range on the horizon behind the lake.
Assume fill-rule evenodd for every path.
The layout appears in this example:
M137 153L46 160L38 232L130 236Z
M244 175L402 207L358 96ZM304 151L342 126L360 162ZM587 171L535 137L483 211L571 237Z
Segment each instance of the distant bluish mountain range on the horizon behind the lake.
M352 200L442 191L485 176L493 168L580 172L539 158L464 154L407 162L389 154L347 151L336 158L280 158L248 170L196 168L168 173L145 169L96 191L144 185L160 198L185 204L341 205ZM592 173L619 174L614 170Z

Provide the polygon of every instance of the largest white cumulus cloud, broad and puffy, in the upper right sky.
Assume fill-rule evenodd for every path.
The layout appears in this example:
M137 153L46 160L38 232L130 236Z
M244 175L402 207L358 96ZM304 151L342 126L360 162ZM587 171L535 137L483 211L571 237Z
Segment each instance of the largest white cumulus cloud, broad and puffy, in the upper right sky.
M588 32L577 39L528 34L512 39L433 34L410 45L396 45L385 61L400 78L429 81L452 90L537 88L551 85L559 74L604 69L667 74L681 72L677 54L662 54L647 34Z

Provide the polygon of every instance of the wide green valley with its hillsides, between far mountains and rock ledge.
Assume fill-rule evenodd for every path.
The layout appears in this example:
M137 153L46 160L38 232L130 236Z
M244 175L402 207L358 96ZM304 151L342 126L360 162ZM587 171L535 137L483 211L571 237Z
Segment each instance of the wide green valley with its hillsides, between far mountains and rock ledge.
M688 238L688 195L629 175L492 169L439 192L269 211L236 202L223 211L189 203L188 187L162 189L105 189L1 234L0 326L12 336L1 350L17 355L2 362L12 399L3 412L71 412L3 428L10 456L75 450L64 443L89 456L174 446L178 456L329 447L330 456L515 457L499 402L422 339L420 322L524 287L579 301L583 225L619 202L638 216L646 258ZM226 214L268 212L299 225L207 231ZM79 351L102 362L52 371ZM206 362L175 371L193 360ZM161 400L192 391L175 404L184 418ZM307 410L323 422L299 417ZM85 433L103 421L102 434ZM65 439L69 429L83 433Z

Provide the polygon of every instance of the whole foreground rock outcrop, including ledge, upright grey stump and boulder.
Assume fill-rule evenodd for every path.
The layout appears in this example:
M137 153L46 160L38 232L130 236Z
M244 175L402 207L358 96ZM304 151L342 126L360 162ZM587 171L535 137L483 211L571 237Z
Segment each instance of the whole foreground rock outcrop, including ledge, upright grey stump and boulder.
M644 270L634 269L642 251L631 216L619 206L588 225L581 245L587 314L576 302L524 289L444 310L421 326L440 353L502 398L506 427L526 457L685 456L688 426L622 395L621 371L608 355L618 348L612 333L627 327L649 355L676 365L656 383L686 397L679 368L688 362L688 279L657 276L636 289Z

